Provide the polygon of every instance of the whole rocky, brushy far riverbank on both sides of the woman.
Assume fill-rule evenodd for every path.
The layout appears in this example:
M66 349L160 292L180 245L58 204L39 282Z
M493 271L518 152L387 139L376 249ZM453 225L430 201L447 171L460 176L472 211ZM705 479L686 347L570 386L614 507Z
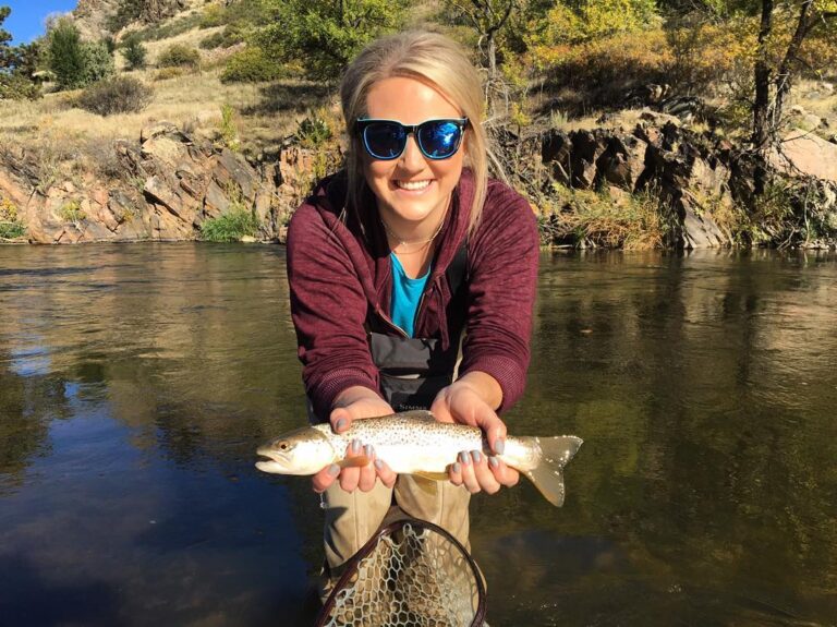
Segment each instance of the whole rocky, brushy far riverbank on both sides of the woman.
M492 129L505 174L530 200L544 245L835 248L837 145L790 132L784 153L771 158L768 192L756 196L756 164L730 141L650 108L610 120L572 131ZM144 128L135 141L98 145L87 156L95 160L7 144L0 238L282 242L314 181L341 162L344 143L329 135L296 136L257 158L171 122Z

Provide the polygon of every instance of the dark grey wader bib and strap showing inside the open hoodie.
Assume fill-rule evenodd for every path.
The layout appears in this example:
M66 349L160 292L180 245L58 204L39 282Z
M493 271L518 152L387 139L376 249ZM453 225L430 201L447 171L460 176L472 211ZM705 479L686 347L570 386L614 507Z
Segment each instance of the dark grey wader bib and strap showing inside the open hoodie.
M468 244L463 243L445 276L451 304L466 306ZM369 350L380 372L380 391L397 412L429 409L436 395L453 382L460 357L461 336L451 336L442 350L436 338L408 338L368 331Z

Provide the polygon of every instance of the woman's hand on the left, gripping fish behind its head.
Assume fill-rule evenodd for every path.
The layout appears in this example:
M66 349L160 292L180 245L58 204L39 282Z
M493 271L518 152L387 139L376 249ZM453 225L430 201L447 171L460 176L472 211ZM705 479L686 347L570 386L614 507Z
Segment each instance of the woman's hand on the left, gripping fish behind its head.
M361 386L350 387L343 390L335 400L335 408L328 420L335 433L344 433L352 422L364 418L376 418L395 413L389 403L375 391ZM365 466L350 466L341 468L337 463L327 466L312 478L314 492L324 492L335 481L340 482L340 487L347 492L354 492L360 487L361 492L369 492L380 479L387 487L396 484L398 475L387 466L383 459L375 457L375 450L371 445L364 445L353 441L345 450L345 457L364 456L368 458Z

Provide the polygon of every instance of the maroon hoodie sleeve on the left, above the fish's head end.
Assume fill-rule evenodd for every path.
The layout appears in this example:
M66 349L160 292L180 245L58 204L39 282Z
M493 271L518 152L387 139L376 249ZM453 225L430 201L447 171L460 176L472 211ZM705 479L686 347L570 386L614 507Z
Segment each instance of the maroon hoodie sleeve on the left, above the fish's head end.
M348 387L378 390L364 327L367 300L347 250L350 243L333 222L306 203L294 212L288 230L291 316L305 390L322 420Z

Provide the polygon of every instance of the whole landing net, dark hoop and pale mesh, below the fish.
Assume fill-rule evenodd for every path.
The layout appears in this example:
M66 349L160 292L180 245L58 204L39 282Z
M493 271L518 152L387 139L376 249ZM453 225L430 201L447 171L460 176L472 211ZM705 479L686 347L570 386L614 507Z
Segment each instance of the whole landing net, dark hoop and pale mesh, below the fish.
M477 627L485 586L468 551L430 522L383 528L350 560L317 619L323 627Z

